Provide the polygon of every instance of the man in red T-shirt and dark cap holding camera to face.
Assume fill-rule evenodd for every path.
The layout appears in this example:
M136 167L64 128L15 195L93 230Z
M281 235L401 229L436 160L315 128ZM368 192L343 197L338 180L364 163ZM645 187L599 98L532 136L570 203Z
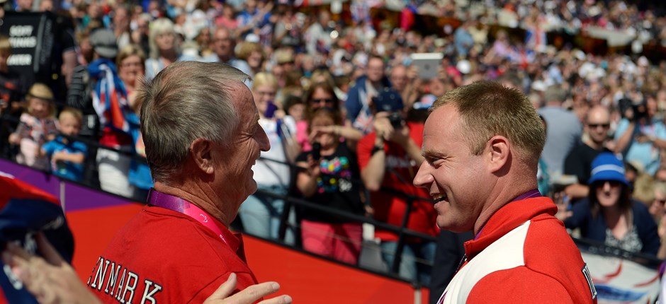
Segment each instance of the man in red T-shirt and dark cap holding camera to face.
M412 185L414 174L423 162L423 122L405 122L402 98L390 88L381 90L372 99L372 109L374 131L359 141L357 153L361 179L370 191L376 220L402 226L405 215L408 215L408 229L436 236L439 229L434 225L436 213L429 194ZM391 269L398 234L378 229L375 236L381 241L383 260ZM407 238L401 256L400 276L427 283L430 267L417 264L415 258L431 261L435 247L435 242Z

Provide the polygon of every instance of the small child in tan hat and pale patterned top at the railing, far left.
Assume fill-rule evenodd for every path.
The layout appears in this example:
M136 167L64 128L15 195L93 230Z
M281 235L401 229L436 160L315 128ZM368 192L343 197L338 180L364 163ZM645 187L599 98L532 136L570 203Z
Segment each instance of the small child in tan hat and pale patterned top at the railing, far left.
M40 148L55 139L58 132L53 92L43 83L35 83L26 95L28 111L21 114L16 131L9 142L20 146L16 162L39 170L48 170L48 158L40 156Z

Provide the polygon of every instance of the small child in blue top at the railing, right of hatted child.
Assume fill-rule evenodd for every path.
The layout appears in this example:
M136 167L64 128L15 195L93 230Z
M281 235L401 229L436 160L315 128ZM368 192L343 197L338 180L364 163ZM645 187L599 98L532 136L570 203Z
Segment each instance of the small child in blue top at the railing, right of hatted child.
M64 108L58 119L60 134L66 136L79 135L82 119L83 114L80 110L72 107ZM62 135L44 144L40 153L42 156L48 156L51 159L53 174L78 182L83 177L83 163L86 160L88 146L81 141L72 141L72 139Z

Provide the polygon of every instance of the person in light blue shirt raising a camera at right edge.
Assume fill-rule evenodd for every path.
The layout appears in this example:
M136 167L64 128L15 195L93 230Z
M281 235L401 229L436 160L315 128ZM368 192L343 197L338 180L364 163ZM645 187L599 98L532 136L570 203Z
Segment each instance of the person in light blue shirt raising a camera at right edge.
M666 148L666 127L653 119L656 111L656 100L634 103L615 132L615 152L622 153L626 163L636 161L643 165L649 175L657 172L660 151Z

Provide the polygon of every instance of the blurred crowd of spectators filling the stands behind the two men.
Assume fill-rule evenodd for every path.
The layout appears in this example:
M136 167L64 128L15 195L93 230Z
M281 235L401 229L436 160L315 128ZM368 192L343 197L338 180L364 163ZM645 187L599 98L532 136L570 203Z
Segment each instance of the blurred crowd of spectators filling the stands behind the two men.
M283 234L288 244L357 264L367 237L344 214L439 234L429 193L412 185L427 110L452 88L500 81L524 92L543 117L540 190L568 227L666 257L666 61L546 39L553 30L602 28L663 45L659 7L594 0L55 4L16 0L1 11L52 11L72 25L52 54L62 63L59 83L23 81L7 64L10 40L0 37L0 148L18 163L143 199L152 180L140 157L140 81L177 61L230 64L252 76L247 86L271 141L253 168L260 191L242 204L239 228ZM400 18L372 18L385 7ZM419 15L461 22L431 35L419 32ZM526 35L509 35L517 27ZM433 76L417 64L418 53L441 55ZM286 194L343 213L285 208ZM400 234L376 228L372 238L392 267ZM398 273L427 282L435 243L408 237L405 244Z

